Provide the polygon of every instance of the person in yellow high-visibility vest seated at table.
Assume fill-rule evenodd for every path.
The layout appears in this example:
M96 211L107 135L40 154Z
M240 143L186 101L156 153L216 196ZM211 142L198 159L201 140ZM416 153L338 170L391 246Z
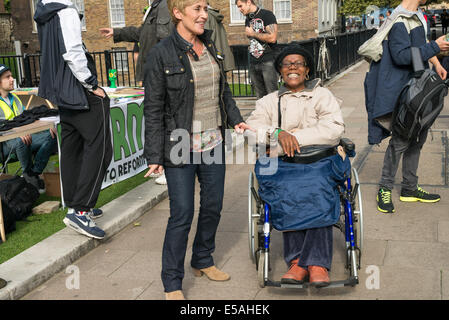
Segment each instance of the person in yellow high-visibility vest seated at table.
M24 110L22 102L14 93L14 78L11 70L0 64L0 120L12 120ZM23 177L34 185L39 192L45 191L44 182L39 175L45 169L53 150L56 147L56 129L25 135L20 138L3 142L2 149L5 159L15 153L20 161ZM33 152L36 154L33 162Z

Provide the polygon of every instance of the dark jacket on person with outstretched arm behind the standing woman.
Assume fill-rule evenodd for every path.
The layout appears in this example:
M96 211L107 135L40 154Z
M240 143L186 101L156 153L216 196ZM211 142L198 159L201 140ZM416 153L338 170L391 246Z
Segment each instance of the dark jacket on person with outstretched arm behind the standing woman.
M114 42L139 42L139 57L136 65L136 80L143 81L143 68L150 49L173 29L167 0L156 0L151 4L150 12L139 27L114 28Z

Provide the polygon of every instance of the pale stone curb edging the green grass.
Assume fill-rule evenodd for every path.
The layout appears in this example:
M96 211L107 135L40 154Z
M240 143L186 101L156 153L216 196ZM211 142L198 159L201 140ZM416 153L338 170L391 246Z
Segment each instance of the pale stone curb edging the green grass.
M238 140L232 150L226 149L226 157L232 157L243 145L244 140ZM101 207L105 214L95 222L106 232L103 240L88 238L66 227L0 264L0 277L7 281L6 287L0 289L0 300L22 298L167 197L167 186L154 180L145 182Z

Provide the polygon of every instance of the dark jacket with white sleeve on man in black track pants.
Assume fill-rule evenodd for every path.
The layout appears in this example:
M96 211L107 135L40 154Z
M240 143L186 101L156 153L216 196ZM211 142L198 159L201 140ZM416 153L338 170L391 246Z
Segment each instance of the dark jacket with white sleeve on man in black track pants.
M78 11L68 0L39 1L34 20L42 52L39 96L59 108L89 109L85 89L96 88L98 81L81 41Z

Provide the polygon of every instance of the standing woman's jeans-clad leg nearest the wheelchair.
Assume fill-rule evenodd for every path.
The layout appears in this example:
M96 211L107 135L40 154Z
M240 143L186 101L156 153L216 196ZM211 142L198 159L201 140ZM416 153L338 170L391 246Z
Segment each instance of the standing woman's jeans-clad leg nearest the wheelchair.
M219 148L220 150L218 150ZM207 152L210 157L213 157L215 152L221 152L222 157L218 159L220 163L202 163L198 166L198 181L201 187L200 212L191 261L191 266L196 269L204 269L214 265L212 253L215 250L215 235L223 207L226 170L223 148L221 144Z

